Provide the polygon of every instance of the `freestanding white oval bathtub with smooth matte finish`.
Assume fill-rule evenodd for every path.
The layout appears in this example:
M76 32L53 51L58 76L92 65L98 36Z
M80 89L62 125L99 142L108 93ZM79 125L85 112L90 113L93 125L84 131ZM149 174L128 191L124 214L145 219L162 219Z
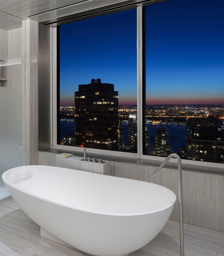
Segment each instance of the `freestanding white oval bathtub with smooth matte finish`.
M128 255L149 243L176 200L153 183L52 166L21 166L2 178L40 227L91 255Z

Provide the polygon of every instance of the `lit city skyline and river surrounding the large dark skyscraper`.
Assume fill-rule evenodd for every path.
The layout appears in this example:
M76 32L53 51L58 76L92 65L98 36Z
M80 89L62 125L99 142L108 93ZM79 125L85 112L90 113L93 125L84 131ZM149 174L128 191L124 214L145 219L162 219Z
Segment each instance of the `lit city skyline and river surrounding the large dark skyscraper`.
M66 128L68 125L68 129L62 128L63 131L73 131L73 135L66 133L66 135L63 136L64 139L61 139L60 144L75 146L75 107L60 107L60 110L60 116L62 118L60 121L61 127ZM134 120L132 118L136 116L136 114L136 106L126 108L126 106L120 105L118 109L118 129L121 135L119 140L122 143L120 144L121 147L118 149L119 151L130 151L135 145L134 141L137 139L137 133L134 132L134 130L137 129L137 123L133 126L132 123ZM70 119L72 117L73 122L71 122L72 119ZM66 120L69 120L69 122L65 122ZM224 104L189 106L148 105L146 109L146 125L148 132L145 140L150 152L148 151L147 155L165 156L171 152L175 152L178 153L181 158L185 159L223 163L223 121ZM161 139L156 142L156 133L158 134L158 132L162 130L166 133L167 137L164 140L161 138L161 135L163 135L161 134ZM135 136L136 138L134 138ZM71 142L73 144L70 144ZM136 150L134 151L137 152Z

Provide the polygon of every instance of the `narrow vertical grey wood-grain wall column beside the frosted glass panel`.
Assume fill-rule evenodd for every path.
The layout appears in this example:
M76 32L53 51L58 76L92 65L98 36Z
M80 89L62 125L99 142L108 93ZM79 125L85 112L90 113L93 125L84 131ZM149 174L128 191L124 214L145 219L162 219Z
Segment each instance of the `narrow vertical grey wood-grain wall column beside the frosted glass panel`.
M26 20L26 164L38 164L38 22Z

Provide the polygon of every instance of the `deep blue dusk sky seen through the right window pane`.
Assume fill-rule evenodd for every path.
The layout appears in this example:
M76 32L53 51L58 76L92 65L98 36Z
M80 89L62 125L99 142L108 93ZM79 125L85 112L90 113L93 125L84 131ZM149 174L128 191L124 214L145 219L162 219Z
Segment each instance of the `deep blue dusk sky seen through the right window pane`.
M153 4L146 24L147 103L224 103L224 1Z

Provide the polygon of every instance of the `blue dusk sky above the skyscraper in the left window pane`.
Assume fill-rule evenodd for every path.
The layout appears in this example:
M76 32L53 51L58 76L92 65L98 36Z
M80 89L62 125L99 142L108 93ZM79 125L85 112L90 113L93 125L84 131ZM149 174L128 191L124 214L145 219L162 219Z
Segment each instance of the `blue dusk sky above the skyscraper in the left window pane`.
M78 84L92 78L114 84L120 102L137 104L136 19L131 9L60 26L61 105L74 105Z

